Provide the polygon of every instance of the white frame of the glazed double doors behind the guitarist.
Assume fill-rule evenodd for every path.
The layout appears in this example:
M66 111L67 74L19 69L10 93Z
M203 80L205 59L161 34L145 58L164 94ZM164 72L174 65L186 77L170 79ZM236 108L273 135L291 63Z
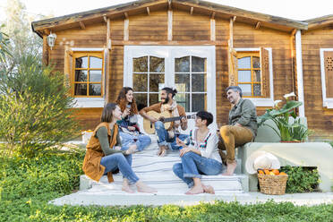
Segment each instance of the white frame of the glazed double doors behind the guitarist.
M207 110L216 116L216 49L215 46L124 46L124 86L132 87L132 58L157 56L165 60L167 87L175 88L175 57L187 55L207 58ZM191 115L192 113L187 113ZM216 121L216 120L215 120Z

